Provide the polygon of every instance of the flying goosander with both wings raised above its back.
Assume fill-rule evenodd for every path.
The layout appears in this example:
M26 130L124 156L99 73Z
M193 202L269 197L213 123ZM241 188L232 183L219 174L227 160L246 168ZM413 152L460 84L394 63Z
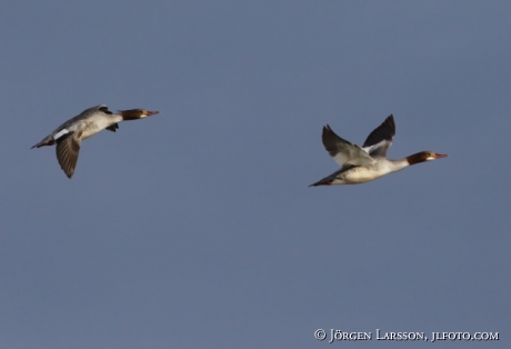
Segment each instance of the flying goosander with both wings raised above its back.
M323 127L323 146L341 169L309 187L364 183L411 164L448 157L433 151L421 151L401 160L389 160L387 149L392 144L394 134L392 114L368 136L362 147L340 138L327 124Z

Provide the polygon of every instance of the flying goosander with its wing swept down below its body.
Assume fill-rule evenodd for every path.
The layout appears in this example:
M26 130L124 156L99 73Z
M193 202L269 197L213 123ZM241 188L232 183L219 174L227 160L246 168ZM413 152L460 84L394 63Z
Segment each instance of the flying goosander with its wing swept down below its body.
M159 111L146 109L119 110L119 113L113 113L108 110L106 104L96 106L66 121L32 148L57 143L57 159L66 176L71 178L77 167L78 152L83 139L94 136L103 129L116 132L119 128L118 123L121 121L138 120L157 113Z

